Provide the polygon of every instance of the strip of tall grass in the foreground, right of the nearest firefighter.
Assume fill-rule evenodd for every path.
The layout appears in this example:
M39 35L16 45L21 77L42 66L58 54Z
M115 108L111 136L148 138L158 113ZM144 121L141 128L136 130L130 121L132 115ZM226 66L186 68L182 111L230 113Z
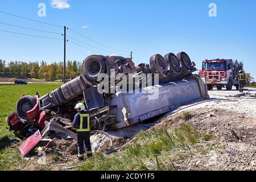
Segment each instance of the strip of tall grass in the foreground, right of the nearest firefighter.
M137 142L127 146L122 154L96 154L79 170L173 170L175 160L191 155L191 146L206 136L195 127L182 124L171 131L163 127L141 131L136 137ZM179 149L183 152L176 154Z

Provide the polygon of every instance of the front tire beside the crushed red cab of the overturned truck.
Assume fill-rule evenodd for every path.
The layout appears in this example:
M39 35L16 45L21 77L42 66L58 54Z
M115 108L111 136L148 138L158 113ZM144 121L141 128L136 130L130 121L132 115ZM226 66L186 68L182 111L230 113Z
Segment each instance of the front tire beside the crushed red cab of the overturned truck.
M36 100L32 96L21 97L16 104L16 113L22 119L27 120L27 111L33 109L36 105Z

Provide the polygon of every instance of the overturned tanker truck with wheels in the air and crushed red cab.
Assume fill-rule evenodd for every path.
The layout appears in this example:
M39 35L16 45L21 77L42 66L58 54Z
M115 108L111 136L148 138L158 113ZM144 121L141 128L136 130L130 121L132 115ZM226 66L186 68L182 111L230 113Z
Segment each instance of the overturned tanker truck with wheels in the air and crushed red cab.
M185 52L157 54L150 64L137 67L130 58L91 55L82 64L81 76L42 97L21 97L6 122L20 137L30 137L53 118L72 121L75 104L84 102L92 130L122 129L208 98L204 81L192 74L195 71Z

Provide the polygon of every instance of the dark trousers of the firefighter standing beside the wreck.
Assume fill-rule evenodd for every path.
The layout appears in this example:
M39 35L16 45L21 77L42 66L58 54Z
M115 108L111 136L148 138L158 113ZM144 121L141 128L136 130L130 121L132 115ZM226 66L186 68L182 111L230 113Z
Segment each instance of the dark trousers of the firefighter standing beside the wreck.
M77 132L77 150L78 158L84 159L84 146L86 148L87 157L92 156L92 147L90 145L90 131Z

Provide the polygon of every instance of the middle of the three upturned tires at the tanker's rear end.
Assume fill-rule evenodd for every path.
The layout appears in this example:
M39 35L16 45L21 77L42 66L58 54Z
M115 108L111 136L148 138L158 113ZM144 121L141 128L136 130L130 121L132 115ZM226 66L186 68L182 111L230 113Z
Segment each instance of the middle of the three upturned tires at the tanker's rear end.
M174 53L168 53L164 56L164 60L166 60L167 64L170 65L171 73L181 73L182 67L180 61L177 59L177 56Z

